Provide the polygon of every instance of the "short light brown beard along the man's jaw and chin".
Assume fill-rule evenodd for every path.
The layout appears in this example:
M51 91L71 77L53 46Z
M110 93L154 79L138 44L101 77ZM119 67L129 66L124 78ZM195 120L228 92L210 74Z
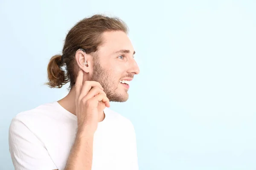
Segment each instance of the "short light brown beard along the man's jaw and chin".
M111 70L102 68L102 66L97 61L94 61L93 75L91 80L99 82L102 85L104 92L106 93L110 102L126 102L129 96L127 93L128 90L125 89L124 94L119 93L117 91L119 86L119 79L113 77L111 73Z

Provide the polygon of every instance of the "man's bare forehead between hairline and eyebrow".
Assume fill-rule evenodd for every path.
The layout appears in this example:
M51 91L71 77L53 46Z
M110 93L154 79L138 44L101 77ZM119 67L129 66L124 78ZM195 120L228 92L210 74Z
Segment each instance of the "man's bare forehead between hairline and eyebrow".
M104 32L102 42L99 53L112 54L119 50L130 50L133 53L134 51L130 39L123 31Z

